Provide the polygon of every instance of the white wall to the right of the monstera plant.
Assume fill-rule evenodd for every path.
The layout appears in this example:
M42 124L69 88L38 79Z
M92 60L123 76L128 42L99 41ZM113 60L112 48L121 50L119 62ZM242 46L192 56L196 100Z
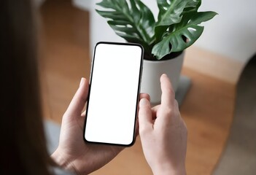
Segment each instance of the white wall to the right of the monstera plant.
M243 63L256 53L255 0L203 0L201 10L218 12L195 43Z

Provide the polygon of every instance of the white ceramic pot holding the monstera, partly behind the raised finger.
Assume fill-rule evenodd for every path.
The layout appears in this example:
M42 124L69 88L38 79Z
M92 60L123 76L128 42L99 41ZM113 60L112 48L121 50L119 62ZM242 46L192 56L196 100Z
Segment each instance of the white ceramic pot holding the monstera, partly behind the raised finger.
M141 93L148 93L152 104L160 104L161 89L160 76L167 74L171 79L171 85L177 90L179 76L182 70L182 63L185 52L176 58L165 61L147 61L143 63L143 73L141 79Z

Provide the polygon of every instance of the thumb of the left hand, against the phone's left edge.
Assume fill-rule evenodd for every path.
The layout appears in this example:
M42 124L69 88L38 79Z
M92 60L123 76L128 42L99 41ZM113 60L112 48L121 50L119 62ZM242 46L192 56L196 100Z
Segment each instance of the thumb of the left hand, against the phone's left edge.
M74 94L74 97L71 100L68 109L66 109L64 116L69 116L69 117L81 116L82 109L84 108L88 98L88 89L89 89L89 84L87 79L82 78L79 88L77 89L77 92Z

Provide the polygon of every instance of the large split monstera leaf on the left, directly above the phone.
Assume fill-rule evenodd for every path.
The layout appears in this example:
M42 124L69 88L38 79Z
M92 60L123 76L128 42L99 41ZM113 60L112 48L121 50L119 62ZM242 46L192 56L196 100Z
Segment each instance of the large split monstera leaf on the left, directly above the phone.
M151 52L154 40L155 18L150 9L139 0L103 0L99 6L108 10L98 10L99 15L108 19L115 33L128 42L140 43L144 50Z

